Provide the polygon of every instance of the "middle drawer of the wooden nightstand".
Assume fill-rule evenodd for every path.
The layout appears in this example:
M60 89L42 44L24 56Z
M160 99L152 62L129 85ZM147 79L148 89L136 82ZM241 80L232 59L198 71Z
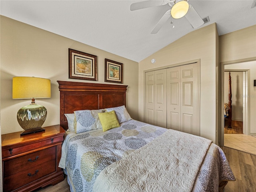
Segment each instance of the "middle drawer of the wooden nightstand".
M4 161L4 176L8 177L31 167L36 168L49 160L56 161L56 146Z

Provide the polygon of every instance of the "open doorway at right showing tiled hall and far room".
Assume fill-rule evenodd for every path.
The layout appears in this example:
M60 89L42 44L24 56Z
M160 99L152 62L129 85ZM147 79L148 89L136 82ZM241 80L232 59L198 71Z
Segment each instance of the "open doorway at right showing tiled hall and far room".
M225 134L225 136L228 136L232 142L230 142L230 148L235 148L238 150L250 152L252 154L256 154L256 140L255 137L252 135L255 135L256 133L256 120L255 115L256 114L256 100L254 99L254 96L256 96L256 87L253 86L253 80L256 78L256 60L250 60L250 61L244 61L244 62L226 62L221 63L220 68L220 105L224 106L224 100L226 97L226 94L224 93L224 86L226 86L226 81L224 79L225 71L231 71L231 72L237 72L240 73L242 78L237 79L237 75L232 75L232 98L236 99L242 99L240 101L232 101L232 109L234 109L234 104L241 103L240 105L240 111L242 112L242 118L240 114L240 118L238 120L242 119L243 122L243 133L242 134ZM242 88L239 88L239 91L237 91L237 81L242 81ZM240 82L241 86L241 82ZM235 92L233 92L233 90ZM242 93L241 93L242 92ZM219 106L220 112L224 110L222 106ZM220 146L227 146L227 144L224 144L224 116L223 114L220 114L220 135L219 135L219 144ZM233 118L232 118L233 119ZM223 120L223 121L222 121ZM234 121L237 120L236 117L234 117Z

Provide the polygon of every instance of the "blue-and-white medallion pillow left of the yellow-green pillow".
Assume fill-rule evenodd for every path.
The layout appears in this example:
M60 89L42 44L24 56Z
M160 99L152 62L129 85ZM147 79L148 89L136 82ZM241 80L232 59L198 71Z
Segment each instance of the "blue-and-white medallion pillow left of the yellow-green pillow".
M103 113L104 109L99 110L79 110L74 111L74 130L82 133L94 129L102 129L98 113Z

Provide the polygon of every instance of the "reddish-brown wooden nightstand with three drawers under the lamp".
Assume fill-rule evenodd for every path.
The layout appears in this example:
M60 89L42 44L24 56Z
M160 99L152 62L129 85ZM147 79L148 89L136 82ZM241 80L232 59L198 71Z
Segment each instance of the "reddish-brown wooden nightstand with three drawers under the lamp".
M60 125L45 132L2 135L3 191L33 191L64 180L58 167L65 130Z

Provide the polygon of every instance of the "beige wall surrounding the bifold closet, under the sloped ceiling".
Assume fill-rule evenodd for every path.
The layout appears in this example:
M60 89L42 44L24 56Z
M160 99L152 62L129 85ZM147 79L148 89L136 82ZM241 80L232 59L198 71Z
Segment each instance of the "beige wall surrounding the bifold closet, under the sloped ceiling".
M139 62L140 120L143 120L144 108L144 71L200 59L200 136L216 141L216 37L216 24L211 24L190 32ZM152 58L156 59L155 64L150 62Z

